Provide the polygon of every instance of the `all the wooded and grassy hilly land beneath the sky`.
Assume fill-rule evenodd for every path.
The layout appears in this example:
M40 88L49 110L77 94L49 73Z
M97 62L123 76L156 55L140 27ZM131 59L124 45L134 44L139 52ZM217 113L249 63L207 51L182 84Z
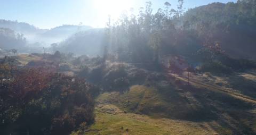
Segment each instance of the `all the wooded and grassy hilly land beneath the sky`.
M105 28L0 20L0 134L256 134L256 1L185 3Z

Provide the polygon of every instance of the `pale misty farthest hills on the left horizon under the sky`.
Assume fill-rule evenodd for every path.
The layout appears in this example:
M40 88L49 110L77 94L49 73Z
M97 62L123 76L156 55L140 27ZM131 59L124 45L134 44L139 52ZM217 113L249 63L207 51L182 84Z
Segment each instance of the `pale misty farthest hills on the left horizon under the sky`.
M75 25L63 25L52 29L39 29L28 23L10 20L0 20L0 28L7 28L17 33L22 33L28 40L28 43L41 43L43 46L65 40L76 32L92 29L90 26Z

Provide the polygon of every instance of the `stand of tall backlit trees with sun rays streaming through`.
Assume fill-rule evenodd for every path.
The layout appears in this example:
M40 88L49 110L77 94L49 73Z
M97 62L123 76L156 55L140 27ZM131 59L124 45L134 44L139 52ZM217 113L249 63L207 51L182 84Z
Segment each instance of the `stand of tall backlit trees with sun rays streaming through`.
M167 41L174 39L176 29L172 19L183 14L183 1L179 2L179 11L165 3L165 10L159 9L155 14L152 3L147 2L138 15L123 14L116 23L109 22L106 29L109 53L115 54L119 61L158 64L167 48L164 43L170 44Z

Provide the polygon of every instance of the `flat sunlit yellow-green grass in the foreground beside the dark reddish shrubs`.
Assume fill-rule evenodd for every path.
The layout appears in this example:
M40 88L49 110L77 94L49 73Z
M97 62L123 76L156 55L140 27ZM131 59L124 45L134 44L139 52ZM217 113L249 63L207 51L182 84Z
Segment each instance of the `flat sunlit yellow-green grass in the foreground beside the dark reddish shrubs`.
M153 119L146 115L124 113L110 104L98 105L95 114L95 123L85 134L215 134L205 122Z

